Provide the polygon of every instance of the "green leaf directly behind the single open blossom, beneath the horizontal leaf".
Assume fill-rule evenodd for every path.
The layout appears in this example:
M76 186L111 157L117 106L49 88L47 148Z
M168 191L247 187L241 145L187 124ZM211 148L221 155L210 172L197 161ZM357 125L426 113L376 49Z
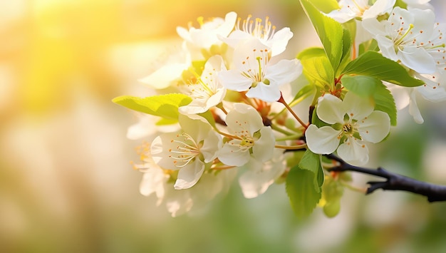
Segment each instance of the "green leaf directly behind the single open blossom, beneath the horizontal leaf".
M375 110L381 110L390 117L390 124L397 123L397 110L392 93L377 78L370 76L343 76L342 85L348 91L364 98L371 98L375 103Z

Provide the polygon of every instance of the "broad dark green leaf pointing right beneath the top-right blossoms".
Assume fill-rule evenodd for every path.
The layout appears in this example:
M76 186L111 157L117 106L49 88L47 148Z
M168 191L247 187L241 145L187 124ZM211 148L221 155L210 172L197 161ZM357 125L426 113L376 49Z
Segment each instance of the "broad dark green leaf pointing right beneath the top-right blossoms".
M422 81L412 78L403 66L374 51L363 53L363 55L348 63L343 70L343 74L373 76L379 80L405 87L415 87L423 84Z

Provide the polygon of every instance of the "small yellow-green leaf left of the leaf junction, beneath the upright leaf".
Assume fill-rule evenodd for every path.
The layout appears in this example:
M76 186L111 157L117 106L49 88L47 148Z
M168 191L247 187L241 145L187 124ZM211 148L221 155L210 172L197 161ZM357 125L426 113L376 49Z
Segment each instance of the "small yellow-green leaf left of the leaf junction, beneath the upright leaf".
M313 85L322 89L333 88L334 72L327 56L305 57L301 60L303 72Z

